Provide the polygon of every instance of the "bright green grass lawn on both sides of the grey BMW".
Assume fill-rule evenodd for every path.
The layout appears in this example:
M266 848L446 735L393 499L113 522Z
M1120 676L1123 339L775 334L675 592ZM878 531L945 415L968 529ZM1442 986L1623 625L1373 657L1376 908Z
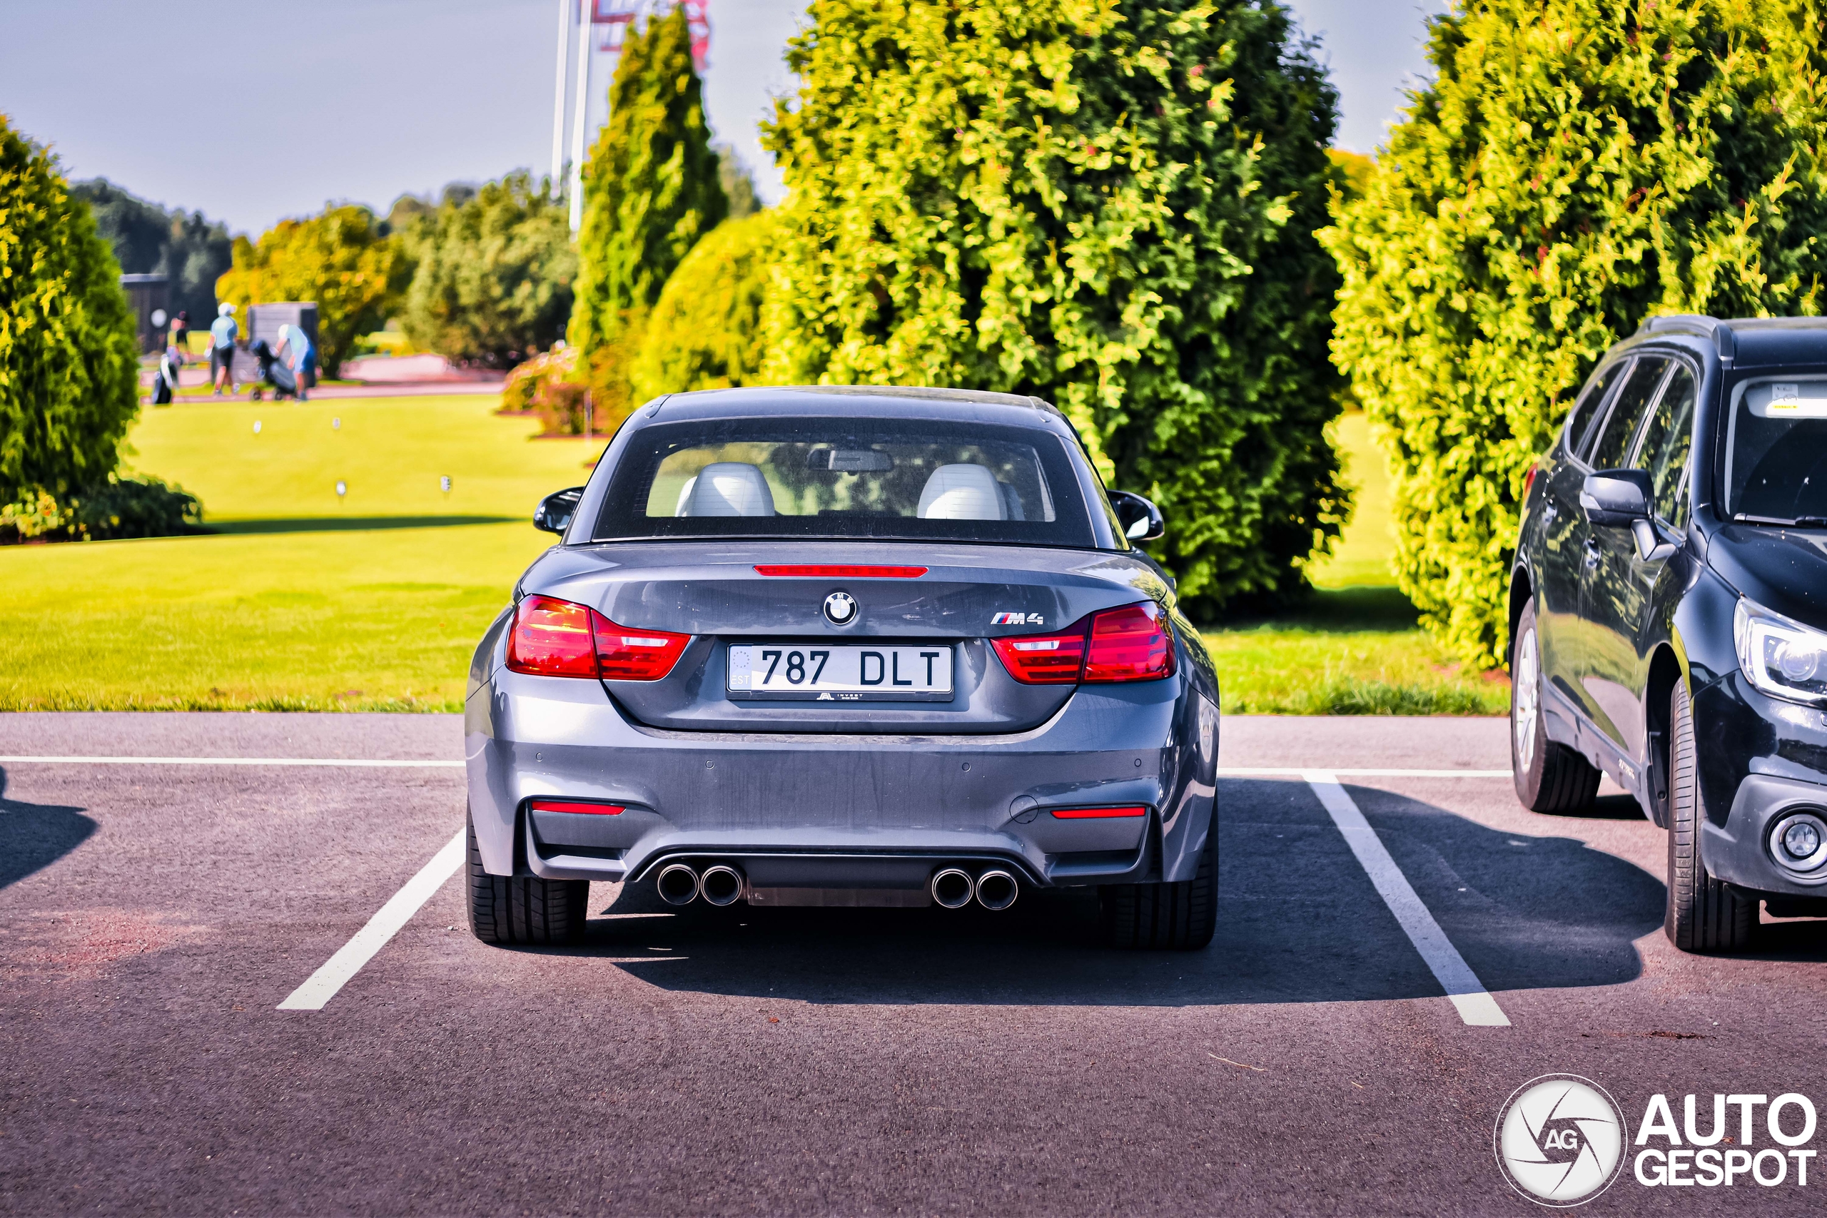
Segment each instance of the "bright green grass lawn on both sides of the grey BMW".
M475 639L552 541L533 504L583 482L601 447L533 440L533 420L495 404L143 411L130 469L195 493L219 531L0 550L0 709L459 709ZM1206 634L1226 710L1502 712L1504 683L1452 667L1389 586L1381 457L1361 415L1337 435L1356 519L1310 604Z

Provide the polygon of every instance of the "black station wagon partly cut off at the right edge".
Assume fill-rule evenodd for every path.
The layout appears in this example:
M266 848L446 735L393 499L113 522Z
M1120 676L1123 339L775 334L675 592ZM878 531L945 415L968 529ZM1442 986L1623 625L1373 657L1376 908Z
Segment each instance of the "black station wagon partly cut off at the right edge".
M1675 946L1827 915L1827 320L1652 318L1606 352L1529 471L1509 619L1516 794L1635 794Z

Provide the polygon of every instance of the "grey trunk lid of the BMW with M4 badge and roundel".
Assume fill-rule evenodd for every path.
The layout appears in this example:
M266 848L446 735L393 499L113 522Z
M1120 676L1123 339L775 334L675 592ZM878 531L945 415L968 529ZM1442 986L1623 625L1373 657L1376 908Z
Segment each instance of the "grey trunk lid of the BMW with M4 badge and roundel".
M924 568L919 575L870 572L764 573L767 568ZM1171 603L1158 572L1138 557L1096 550L930 542L605 542L550 550L523 579L537 592L588 604L636 630L692 635L660 681L605 681L634 721L661 730L716 732L1021 732L1045 723L1076 685L1021 685L990 639L1063 628L1087 614L1155 599ZM826 612L829 597L840 601ZM844 608L850 617L844 617ZM747 648L736 650L733 648ZM784 663L815 652L839 677L862 652L868 688L833 699L780 685ZM893 683L943 674L950 690L884 694ZM924 659L923 659L924 657ZM753 665L775 672L773 688L731 688ZM899 665L906 665L901 668ZM937 667L932 667L937 665ZM804 668L802 668L804 672ZM899 681L899 677L908 677ZM873 681L871 681L873 677ZM738 681L740 685L740 681Z

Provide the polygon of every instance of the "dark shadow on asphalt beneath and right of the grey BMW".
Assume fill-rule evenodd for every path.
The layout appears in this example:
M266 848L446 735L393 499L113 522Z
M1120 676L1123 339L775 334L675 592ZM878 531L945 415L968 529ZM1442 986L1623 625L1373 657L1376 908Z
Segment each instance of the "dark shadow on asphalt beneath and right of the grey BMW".
M1491 990L1608 986L1663 884L1584 842L1487 829L1352 787L1416 893ZM1089 891L981 909L683 911L625 886L581 950L663 990L808 1003L1219 1006L1440 997L1330 816L1299 782L1224 780L1219 931L1204 951L1116 951Z

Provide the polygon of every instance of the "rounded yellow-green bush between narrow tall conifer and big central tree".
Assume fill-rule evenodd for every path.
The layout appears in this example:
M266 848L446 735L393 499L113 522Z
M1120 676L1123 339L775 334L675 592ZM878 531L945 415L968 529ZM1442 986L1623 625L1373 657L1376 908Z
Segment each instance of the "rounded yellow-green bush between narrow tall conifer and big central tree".
M680 261L634 360L634 402L758 382L773 232L773 212L727 219Z

